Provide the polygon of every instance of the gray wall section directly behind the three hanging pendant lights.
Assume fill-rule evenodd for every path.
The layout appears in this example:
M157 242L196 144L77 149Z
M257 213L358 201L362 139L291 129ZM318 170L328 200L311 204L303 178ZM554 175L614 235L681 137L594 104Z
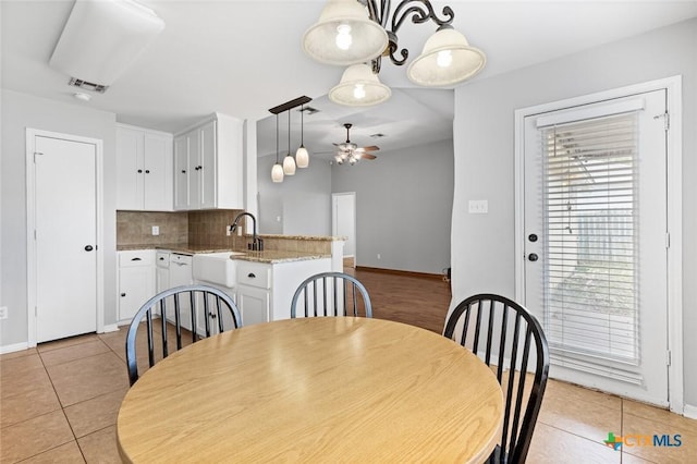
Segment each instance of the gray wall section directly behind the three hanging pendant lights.
M284 155L283 155L284 156ZM276 155L257 161L259 231L286 235L331 235L331 170L313 158L282 183L271 182ZM281 220L277 221L280 217Z

